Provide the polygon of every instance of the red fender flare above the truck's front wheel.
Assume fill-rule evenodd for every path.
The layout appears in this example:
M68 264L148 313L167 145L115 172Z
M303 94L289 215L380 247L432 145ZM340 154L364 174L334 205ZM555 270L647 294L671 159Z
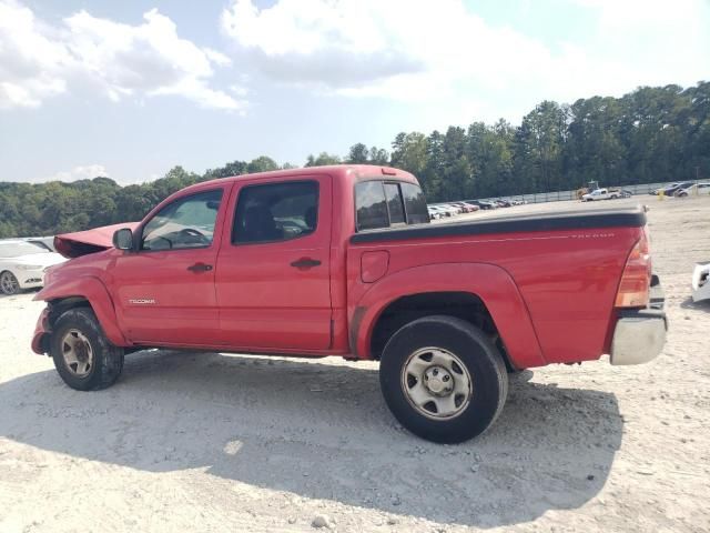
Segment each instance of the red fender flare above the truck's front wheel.
M113 300L106 291L103 282L93 275L85 275L71 280L62 280L61 284L42 289L37 293L34 300L44 300L51 302L53 300L62 300L64 298L83 298L99 319L99 323L106 334L111 344L115 346L132 345L125 340L121 329L118 325Z

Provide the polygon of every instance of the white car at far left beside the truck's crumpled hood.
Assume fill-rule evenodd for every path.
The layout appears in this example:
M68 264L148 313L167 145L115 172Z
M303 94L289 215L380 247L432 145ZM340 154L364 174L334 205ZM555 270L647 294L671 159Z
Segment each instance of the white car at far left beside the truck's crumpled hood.
M63 261L43 244L0 241L0 292L17 294L21 289L42 286L44 271Z

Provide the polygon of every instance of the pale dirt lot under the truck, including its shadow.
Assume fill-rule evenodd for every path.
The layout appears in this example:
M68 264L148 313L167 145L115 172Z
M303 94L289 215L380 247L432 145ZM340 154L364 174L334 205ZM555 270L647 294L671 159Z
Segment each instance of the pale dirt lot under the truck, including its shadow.
M400 429L375 364L333 358L141 352L112 389L74 392L30 351L42 304L0 299L0 531L710 530L710 304L689 299L710 198L641 200L665 353L523 373L457 446Z

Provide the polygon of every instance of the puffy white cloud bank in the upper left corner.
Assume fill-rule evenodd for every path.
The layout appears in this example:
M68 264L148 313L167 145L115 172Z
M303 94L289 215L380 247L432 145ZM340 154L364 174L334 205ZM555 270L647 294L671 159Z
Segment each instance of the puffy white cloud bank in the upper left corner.
M210 87L231 60L181 39L156 9L138 26L80 11L52 28L14 0L0 0L0 107L38 107L75 84L94 84L114 101L175 94L205 108L246 102Z

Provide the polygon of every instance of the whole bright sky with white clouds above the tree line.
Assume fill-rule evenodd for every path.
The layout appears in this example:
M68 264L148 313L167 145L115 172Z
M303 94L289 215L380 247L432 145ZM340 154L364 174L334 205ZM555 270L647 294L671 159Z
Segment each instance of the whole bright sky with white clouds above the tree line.
M710 79L710 0L0 0L0 181L304 164Z

